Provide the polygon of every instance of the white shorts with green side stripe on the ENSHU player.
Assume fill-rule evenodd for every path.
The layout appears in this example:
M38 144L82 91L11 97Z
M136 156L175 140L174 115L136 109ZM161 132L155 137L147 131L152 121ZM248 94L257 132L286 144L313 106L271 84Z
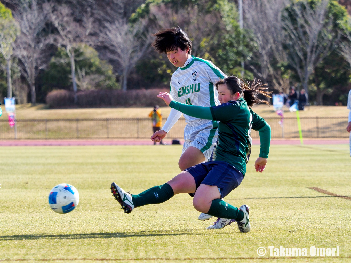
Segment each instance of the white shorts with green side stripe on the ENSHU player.
M181 154L189 146L193 146L204 154L206 161L210 159L218 138L217 126L217 121L212 122L212 120L199 120L187 123L184 129L184 144Z

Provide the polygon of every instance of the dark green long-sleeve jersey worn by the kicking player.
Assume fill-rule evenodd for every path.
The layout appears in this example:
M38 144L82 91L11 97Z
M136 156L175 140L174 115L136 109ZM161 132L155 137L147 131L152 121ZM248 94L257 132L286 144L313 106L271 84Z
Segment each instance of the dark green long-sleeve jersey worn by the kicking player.
M251 153L251 129L260 134L260 157L268 158L271 127L243 98L218 106L201 107L172 100L170 107L200 119L218 120L218 140L210 161L225 161L245 175Z

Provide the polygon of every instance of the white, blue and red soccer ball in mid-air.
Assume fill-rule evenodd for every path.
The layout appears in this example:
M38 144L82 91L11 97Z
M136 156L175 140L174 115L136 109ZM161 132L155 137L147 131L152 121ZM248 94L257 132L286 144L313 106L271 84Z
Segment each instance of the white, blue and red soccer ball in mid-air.
M79 203L79 193L73 185L58 184L49 193L49 206L59 214L71 212Z

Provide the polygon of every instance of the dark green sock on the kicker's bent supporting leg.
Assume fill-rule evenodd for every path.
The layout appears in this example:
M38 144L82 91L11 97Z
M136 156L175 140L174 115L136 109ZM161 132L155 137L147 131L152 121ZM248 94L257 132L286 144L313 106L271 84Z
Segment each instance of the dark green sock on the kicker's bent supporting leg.
M207 214L220 218L235 219L236 221L241 221L244 218L243 211L221 199L212 200L210 210L208 210Z

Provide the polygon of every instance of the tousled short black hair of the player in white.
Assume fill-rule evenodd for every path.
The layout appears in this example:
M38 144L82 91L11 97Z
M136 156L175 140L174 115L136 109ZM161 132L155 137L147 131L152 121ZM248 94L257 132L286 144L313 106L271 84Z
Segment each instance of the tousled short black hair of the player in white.
M179 27L160 29L153 36L156 39L151 46L160 54L176 50L178 47L183 51L189 48L188 53L191 54L191 40Z

